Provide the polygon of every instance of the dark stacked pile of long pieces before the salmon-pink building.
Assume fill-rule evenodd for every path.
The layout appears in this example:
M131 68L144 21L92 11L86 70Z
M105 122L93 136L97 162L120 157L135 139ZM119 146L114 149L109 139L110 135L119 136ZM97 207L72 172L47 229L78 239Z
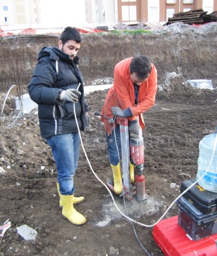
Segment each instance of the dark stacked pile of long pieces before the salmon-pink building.
M203 9L196 9L188 12L179 12L174 14L172 18L168 18L168 22L165 25L169 25L175 22L182 22L189 25L194 24L204 24L213 21L217 21L217 12L212 12L212 14L207 14Z

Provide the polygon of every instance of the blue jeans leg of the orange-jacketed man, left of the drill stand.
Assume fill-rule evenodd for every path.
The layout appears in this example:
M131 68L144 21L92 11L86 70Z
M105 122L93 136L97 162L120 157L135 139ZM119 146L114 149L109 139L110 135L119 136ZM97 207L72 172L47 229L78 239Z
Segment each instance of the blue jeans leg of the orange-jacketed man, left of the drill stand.
M115 139L114 133L116 134L116 139ZM108 160L110 161L110 164L112 164L113 166L117 166L117 164L121 159L121 137L120 137L119 124L116 125L116 127L114 128L114 130L111 132L110 135L106 133L106 140L107 140L107 146L108 146ZM116 141L117 141L120 159L118 157Z

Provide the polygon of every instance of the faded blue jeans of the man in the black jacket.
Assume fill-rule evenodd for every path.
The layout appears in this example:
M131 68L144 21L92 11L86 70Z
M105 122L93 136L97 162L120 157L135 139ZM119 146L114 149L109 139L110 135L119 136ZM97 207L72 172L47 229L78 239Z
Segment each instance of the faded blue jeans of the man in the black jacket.
M73 176L79 161L79 133L61 134L46 140L55 158L60 194L72 195L74 193Z

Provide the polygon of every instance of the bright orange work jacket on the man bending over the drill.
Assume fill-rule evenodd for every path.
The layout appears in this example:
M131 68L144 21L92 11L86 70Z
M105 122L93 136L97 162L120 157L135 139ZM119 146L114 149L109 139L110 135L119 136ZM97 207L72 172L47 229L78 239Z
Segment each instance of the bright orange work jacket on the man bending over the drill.
M135 105L134 84L130 78L130 62L132 58L121 60L114 68L114 84L108 90L106 100L103 105L101 114L103 116L113 118L111 107L120 107L122 110L130 107L133 116L127 117L129 121L133 121L139 116L140 126L145 128L143 113L150 109L155 102L157 92L157 69L152 64L152 69L148 79L141 83L138 92L138 104ZM108 119L101 117L107 134L111 133L113 124L108 123Z

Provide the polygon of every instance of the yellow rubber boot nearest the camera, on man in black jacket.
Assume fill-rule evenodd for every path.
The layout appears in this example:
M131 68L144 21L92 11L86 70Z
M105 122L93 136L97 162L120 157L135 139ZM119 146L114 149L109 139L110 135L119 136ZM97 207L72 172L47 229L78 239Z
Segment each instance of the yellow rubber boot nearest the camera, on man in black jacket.
M74 209L73 195L71 196L61 195L61 198L63 203L63 210L62 210L63 216L65 216L71 223L75 225L82 225L86 223L87 219Z

